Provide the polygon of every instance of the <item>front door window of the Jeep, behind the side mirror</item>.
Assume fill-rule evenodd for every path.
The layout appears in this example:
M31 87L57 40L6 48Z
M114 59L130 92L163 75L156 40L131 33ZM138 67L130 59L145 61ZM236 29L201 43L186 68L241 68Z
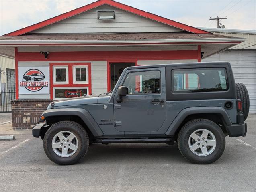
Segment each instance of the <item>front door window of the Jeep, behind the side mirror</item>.
M140 71L128 73L123 86L129 95L160 93L160 71Z

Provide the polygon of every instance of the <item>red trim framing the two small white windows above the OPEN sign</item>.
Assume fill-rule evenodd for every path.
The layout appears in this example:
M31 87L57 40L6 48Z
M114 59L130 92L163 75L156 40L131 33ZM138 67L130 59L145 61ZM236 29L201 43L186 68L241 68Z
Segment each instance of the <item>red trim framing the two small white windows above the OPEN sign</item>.
M68 84L53 84L53 66L68 65ZM73 66L88 65L88 84L73 83ZM91 63L50 63L50 98L53 99L53 87L88 87L88 95L92 94Z

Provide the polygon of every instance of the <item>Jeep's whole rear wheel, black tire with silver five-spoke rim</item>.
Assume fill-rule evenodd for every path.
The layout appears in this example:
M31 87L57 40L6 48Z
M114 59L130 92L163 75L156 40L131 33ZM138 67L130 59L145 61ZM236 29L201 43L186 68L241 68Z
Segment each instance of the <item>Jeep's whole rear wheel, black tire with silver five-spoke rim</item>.
M178 134L181 154L195 164L210 164L219 159L225 149L225 135L208 119L188 121Z

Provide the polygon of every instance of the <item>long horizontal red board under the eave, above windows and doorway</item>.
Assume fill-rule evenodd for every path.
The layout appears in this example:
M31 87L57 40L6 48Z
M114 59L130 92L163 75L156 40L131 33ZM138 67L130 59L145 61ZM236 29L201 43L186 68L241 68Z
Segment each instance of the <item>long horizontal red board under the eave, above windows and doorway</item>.
M198 50L171 51L74 51L50 52L48 58L40 52L19 52L18 61L137 61L198 59Z

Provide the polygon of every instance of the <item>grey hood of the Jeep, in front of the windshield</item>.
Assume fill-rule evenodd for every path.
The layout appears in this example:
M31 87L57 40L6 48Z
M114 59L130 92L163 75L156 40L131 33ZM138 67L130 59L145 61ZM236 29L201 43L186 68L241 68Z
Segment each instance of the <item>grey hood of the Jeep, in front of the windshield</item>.
M100 97L100 99L98 99ZM53 101L54 107L108 103L110 95L89 95Z

